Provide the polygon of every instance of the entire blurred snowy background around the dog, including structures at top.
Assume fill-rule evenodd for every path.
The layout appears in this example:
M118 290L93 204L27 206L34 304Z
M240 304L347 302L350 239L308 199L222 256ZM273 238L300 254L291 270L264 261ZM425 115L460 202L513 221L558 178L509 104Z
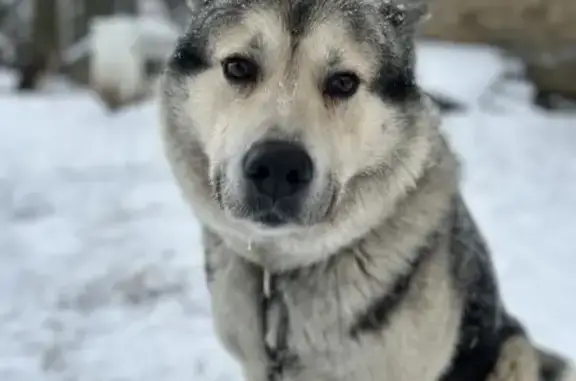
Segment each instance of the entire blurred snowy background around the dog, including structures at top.
M0 380L240 380L162 155L184 0L0 0ZM576 2L432 0L417 75L505 302L576 358Z

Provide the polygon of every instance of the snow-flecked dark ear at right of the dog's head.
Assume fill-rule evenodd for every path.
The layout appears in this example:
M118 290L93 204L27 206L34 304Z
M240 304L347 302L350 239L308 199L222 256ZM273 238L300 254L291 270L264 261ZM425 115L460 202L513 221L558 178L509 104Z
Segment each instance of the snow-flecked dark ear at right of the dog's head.
M403 32L414 32L429 17L429 0L384 0L382 15Z

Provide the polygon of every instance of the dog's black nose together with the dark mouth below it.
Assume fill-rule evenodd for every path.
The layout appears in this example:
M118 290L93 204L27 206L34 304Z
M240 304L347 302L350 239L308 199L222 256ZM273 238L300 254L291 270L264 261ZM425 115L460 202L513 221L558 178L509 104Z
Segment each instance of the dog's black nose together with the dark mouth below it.
M293 222L314 177L306 150L280 140L256 143L244 156L242 169L252 218L267 226Z

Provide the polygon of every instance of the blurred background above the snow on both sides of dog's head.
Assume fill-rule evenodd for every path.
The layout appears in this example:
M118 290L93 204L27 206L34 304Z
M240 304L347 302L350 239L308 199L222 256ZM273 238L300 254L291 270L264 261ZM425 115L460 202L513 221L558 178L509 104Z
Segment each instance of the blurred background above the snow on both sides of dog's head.
M46 75L61 75L91 87L112 109L137 102L150 94L186 26L184 2L1 0L0 64L17 71L14 90L36 90ZM511 75L533 85L535 104L573 106L575 2L433 0L430 5L424 38L498 47L521 63Z

